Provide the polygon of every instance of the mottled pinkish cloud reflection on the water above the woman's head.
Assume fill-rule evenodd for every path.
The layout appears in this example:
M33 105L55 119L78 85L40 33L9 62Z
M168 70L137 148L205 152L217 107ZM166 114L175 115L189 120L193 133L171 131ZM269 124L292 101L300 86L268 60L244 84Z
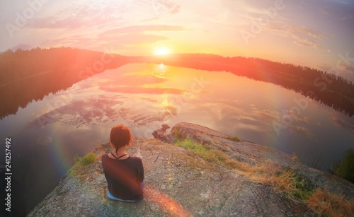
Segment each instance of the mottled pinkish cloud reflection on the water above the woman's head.
M144 108L142 110L142 107ZM176 117L177 109L172 105L160 106L156 102L141 98L122 98L120 95L99 95L83 100L74 100L57 110L40 115L28 125L45 127L61 122L70 128L100 125L109 122L125 122L128 125L147 127L152 122L164 122ZM43 140L46 143L50 140Z

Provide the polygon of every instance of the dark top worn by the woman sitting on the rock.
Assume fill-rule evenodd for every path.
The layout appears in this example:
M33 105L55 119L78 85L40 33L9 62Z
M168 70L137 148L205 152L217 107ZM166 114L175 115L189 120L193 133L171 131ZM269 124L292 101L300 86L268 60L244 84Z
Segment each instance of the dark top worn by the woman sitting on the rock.
M105 154L102 156L102 167L110 194L119 199L143 199L141 182L144 180L144 168L142 159L129 156L124 160L116 160Z

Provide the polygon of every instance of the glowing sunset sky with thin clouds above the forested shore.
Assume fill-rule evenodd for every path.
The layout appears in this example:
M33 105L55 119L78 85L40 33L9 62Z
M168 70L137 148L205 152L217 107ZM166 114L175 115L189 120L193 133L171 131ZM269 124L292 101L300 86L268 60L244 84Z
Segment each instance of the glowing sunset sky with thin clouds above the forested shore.
M1 1L0 20L0 52L212 53L331 69L354 81L351 0Z

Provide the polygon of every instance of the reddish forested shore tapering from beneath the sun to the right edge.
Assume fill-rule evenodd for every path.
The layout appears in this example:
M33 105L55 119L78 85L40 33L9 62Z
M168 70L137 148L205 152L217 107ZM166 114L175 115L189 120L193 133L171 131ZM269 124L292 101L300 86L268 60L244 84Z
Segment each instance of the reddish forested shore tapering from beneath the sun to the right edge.
M294 64L258 58L222 57L215 54L171 54L135 57L135 61L183 66L207 71L229 71L256 81L274 83L321 102L350 117L354 115L354 83L348 79Z

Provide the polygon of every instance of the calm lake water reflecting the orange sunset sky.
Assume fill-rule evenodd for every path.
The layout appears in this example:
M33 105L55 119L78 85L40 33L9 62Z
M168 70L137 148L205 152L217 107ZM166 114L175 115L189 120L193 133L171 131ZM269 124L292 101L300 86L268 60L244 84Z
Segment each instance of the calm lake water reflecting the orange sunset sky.
M12 139L13 172L29 211L73 165L125 124L152 136L161 124L191 122L296 153L326 171L353 148L354 117L272 83L222 71L128 64L33 101L0 121Z

